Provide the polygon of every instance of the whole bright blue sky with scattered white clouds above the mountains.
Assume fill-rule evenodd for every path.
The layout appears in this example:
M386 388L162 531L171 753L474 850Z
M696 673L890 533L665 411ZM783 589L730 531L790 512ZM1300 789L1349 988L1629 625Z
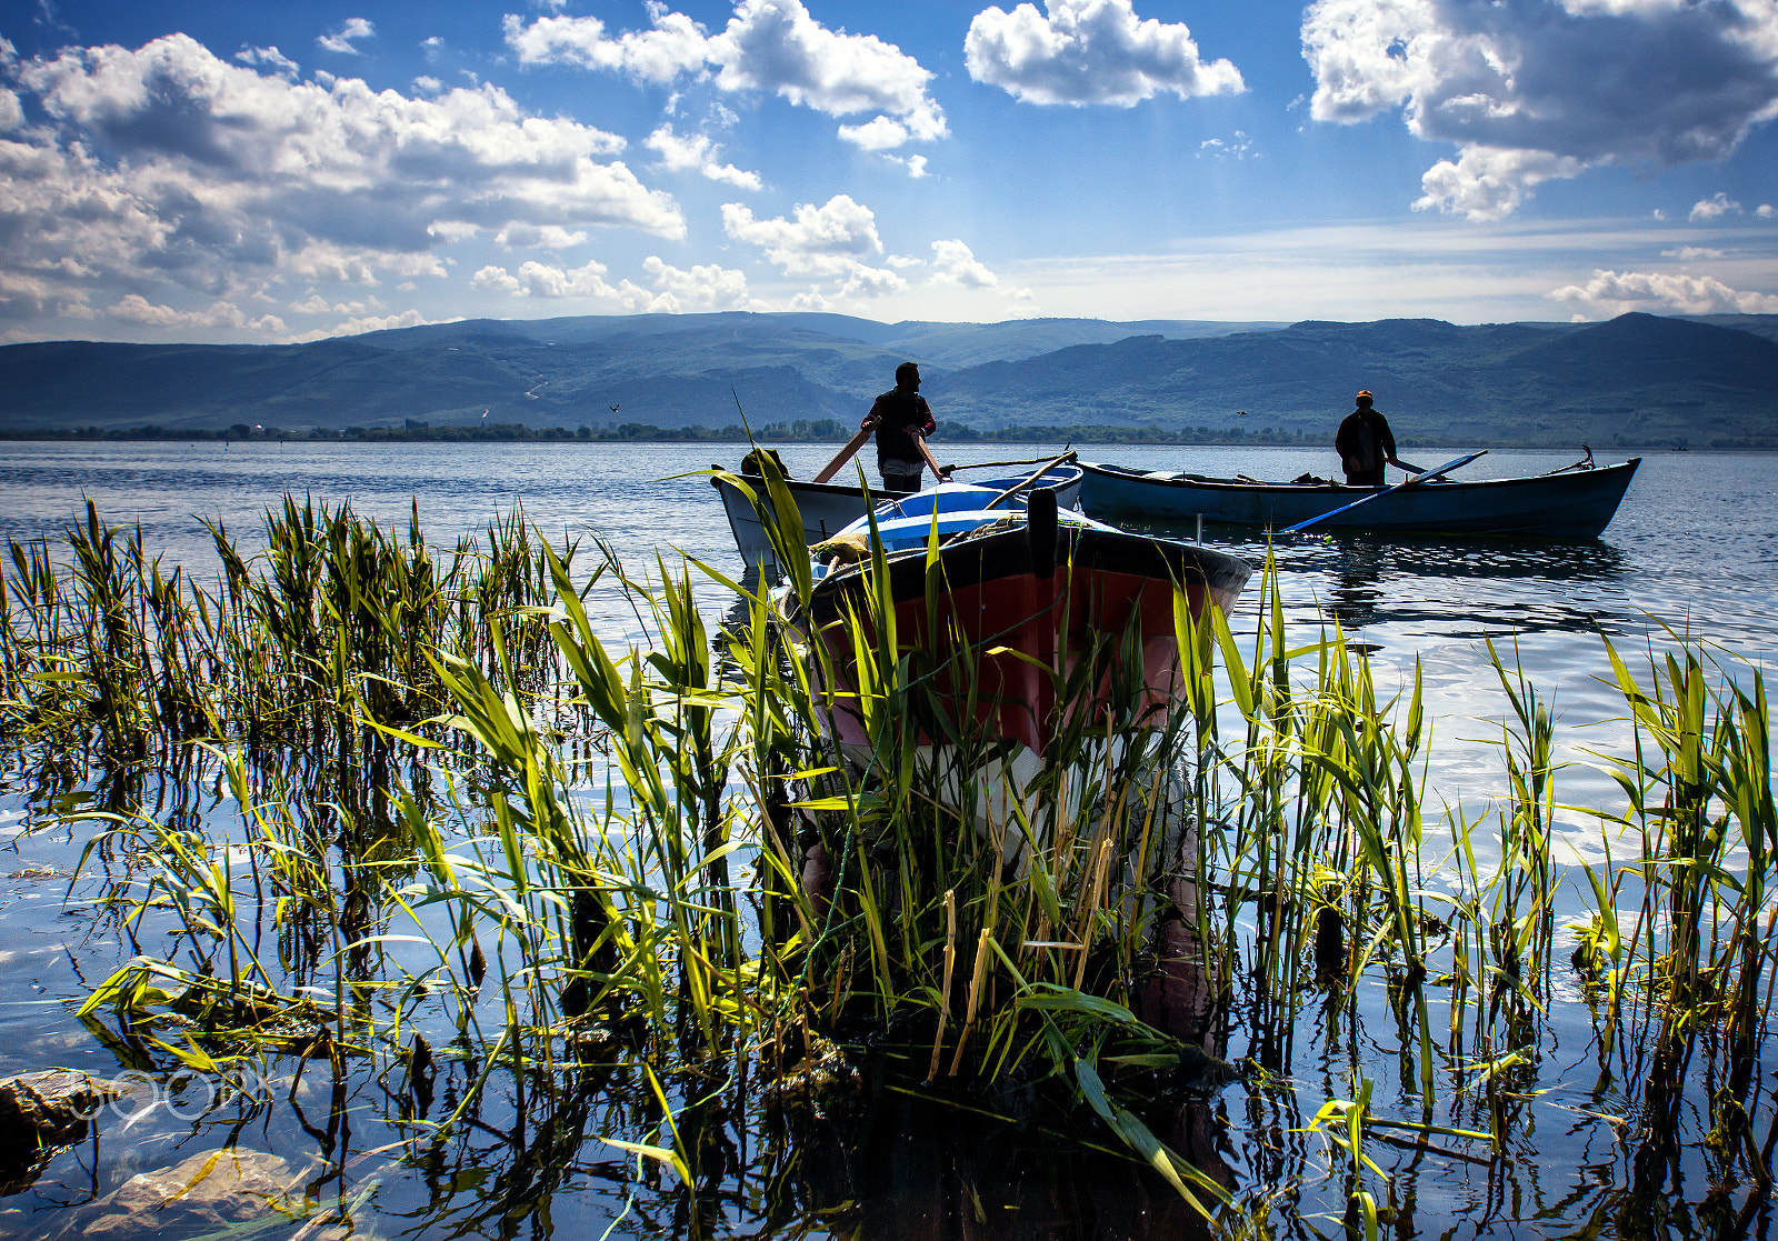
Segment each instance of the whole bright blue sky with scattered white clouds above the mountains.
M0 341L1778 313L1778 0L0 0Z

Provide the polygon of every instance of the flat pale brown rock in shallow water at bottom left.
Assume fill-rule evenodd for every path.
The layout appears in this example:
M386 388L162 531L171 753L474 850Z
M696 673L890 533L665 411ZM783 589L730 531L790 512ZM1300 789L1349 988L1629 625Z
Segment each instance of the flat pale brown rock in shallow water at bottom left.
M96 1202L75 1207L59 1236L123 1239L233 1230L279 1213L297 1214L290 1165L263 1150L204 1150L171 1168L140 1172Z

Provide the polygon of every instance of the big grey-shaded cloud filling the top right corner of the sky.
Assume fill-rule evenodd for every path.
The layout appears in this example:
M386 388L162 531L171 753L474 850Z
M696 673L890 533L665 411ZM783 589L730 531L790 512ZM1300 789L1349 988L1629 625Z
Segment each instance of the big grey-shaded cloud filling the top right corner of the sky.
M1454 142L1415 204L1501 219L1604 164L1719 160L1778 116L1778 0L1314 0L1310 116Z

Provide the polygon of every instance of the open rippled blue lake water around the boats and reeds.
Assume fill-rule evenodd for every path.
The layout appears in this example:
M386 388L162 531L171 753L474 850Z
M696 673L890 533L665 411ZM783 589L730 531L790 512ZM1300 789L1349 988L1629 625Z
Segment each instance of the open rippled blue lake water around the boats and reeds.
M1051 446L1028 444L1008 450L939 443L935 448L941 459L960 462L1051 452ZM738 574L740 556L708 478L674 475L711 462L734 466L741 452L743 446L733 444L288 443L224 448L215 443L14 443L0 457L0 537L53 537L91 498L107 521L139 524L144 544L164 551L169 564L210 574L215 558L203 519L222 523L244 549L251 549L260 544L265 508L286 492L308 492L329 503L350 501L361 516L400 526L418 503L421 526L434 544L475 535L489 519L523 505L525 516L546 535L583 542L594 535L606 539L633 567L653 567L656 555L676 565L683 553ZM1456 450L1408 452L1422 464L1437 464ZM804 478L830 453L827 444L781 446L791 473ZM1305 448L1088 448L1083 455L1149 469L1246 473L1271 480L1303 471L1326 475L1337 464L1332 450ZM1463 476L1542 473L1575 455L1492 452L1465 468ZM1526 674L1554 697L1559 741L1574 763L1559 777L1558 800L1613 805L1616 786L1590 766L1593 759L1586 754L1588 749L1609 750L1627 738L1622 699L1614 686L1600 683L1609 674L1600 633L1627 656L1671 645L1661 622L1719 644L1725 660L1741 656L1748 667L1764 669L1778 656L1778 473L1773 466L1769 455L1650 455L1616 521L1604 537L1590 540L1298 539L1277 548L1289 620L1307 640L1317 624L1337 619L1350 642L1371 649L1373 669L1385 686L1410 686L1419 663L1433 717L1430 814L1444 798L1462 804L1474 818L1486 798L1502 791L1495 743L1506 702L1488 667L1485 637L1504 644L1508 653L1517 645ZM1207 533L1207 542L1255 562L1266 553L1262 544L1218 530ZM715 580L702 578L697 588L711 620L733 606L733 596ZM1246 603L1248 610L1237 608L1232 617L1236 631L1252 628L1250 599ZM635 629L629 610L615 596L596 592L594 613L612 637ZM1632 658L1632 667L1638 661ZM32 868L71 869L84 841L68 830L21 834L28 818L27 789L0 782L0 850L11 850L0 853L0 875L16 875L0 878L0 1076L48 1065L108 1076L119 1067L114 1053L71 1013L87 985L116 967L119 948L94 935L91 907L80 905L78 893L64 907L66 880L30 878ZM1591 820L1566 814L1565 821L1574 850L1597 857ZM1572 1031L1572 1040L1579 1058L1581 1028ZM1321 1065L1328 1081L1335 1067L1332 1060ZM1570 1086L1559 1067L1550 1074L1545 1086L1552 1092L1547 1099L1552 1111L1540 1138L1550 1143L1550 1166L1540 1170L1533 1159L1518 1166L1508 1184L1488 1179L1486 1188L1481 1184L1485 1170L1454 1165L1428 1172L1421 1193L1428 1202L1444 1202L1465 1223L1422 1218L1421 1227L1431 1234L1453 1227L1463 1236L1561 1236L1586 1223L1581 1207L1552 1204L1577 1193L1575 1184L1586 1181L1584 1166L1607 1157L1600 1152L1607 1150L1613 1134L1609 1127L1595 1131L1591 1120L1575 1118L1591 1117L1588 1109L1600 1106L1597 1090ZM1577 1070L1579 1076L1584 1074ZM1234 1095L1229 1106L1236 1106ZM78 1200L87 1179L92 1186L116 1186L133 1170L185 1157L196 1149L188 1140L201 1127L201 1113L192 1102L190 1117L169 1111L133 1134L110 1125L91 1149L57 1159L53 1175L44 1181L48 1189L0 1197L0 1234L50 1236L59 1227L48 1209L55 1195ZM1572 1127L1563 1136L1565 1117ZM281 1111L252 1124L263 1133L252 1138L260 1149L313 1145ZM356 1145L375 1145L375 1140L359 1138ZM612 1236L685 1230L683 1221L626 1220L621 1209L628 1207L599 1166L594 1161L581 1189L564 1191L555 1200L553 1227L564 1236L597 1237L613 1220L621 1221ZM1577 1166L1582 1166L1581 1181L1575 1181ZM535 1220L491 1220L461 1229L461 1218L453 1223L428 1220L427 1204L441 1191L414 1179L391 1179L379 1193L377 1213L386 1223L379 1234L549 1232ZM1501 1205L1502 1195L1513 1197L1513 1205ZM1520 1202L1518 1195L1543 1205ZM1545 1207L1549 1213L1538 1223ZM1337 1218L1314 1223L1326 1236L1339 1232ZM738 1200L713 1230L752 1234L759 1232L759 1221ZM859 1236L893 1236L893 1230L864 1227Z

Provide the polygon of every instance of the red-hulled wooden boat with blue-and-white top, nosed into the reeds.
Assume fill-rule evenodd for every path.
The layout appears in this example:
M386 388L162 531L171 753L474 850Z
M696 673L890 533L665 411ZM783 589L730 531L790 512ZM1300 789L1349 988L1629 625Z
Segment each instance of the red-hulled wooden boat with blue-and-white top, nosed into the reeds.
M921 653L923 663L937 669L933 686L941 701L955 695L953 718L973 711L990 736L1022 743L1008 763L1019 788L1035 773L1056 725L1049 669L1067 677L1095 649L1095 633L1133 633L1141 649L1140 693L1149 706L1170 709L1184 688L1175 585L1198 617L1207 606L1232 608L1252 572L1223 551L1125 533L1061 510L1047 489L1035 489L1028 507L1010 514L948 507L955 503L958 496L919 492L903 501L912 512L877 523L894 642L900 653ZM861 535L871 537L869 523L848 526L841 540ZM871 620L878 583L868 560L816 564L816 572L809 615L791 620L825 647L825 661L816 663L829 670L823 688L836 702L836 740L862 766L869 736L853 704L868 677L861 676L846 617L859 617L871 628L871 642L880 640ZM957 683L951 663L965 647L974 667L969 686ZM1083 706L1092 702L1069 709Z

